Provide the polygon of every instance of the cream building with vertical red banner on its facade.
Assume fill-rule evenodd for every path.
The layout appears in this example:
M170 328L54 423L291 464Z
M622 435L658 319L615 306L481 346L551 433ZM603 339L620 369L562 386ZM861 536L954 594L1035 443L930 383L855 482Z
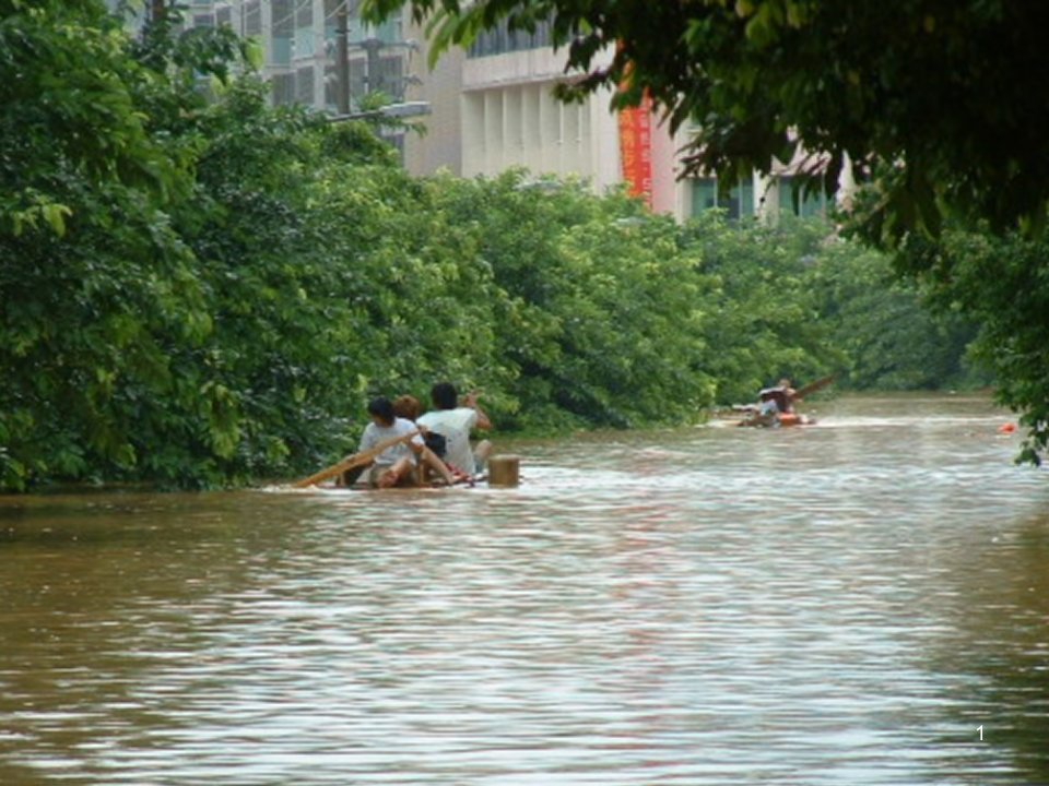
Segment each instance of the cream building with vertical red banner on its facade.
M420 59L423 67L426 61ZM444 55L420 74L414 95L431 104L433 115L426 138L406 144L406 165L415 172L444 166L464 177L524 167L582 177L599 191L625 182L655 211L679 219L711 207L731 218L826 214L825 198L795 203L791 164L777 165L771 177L755 174L734 183L728 198L719 196L714 177L681 178L679 151L691 129L671 134L649 109L614 114L611 92L563 104L553 88L565 78L564 67L564 53L553 50L543 25L534 34L484 33L469 51Z

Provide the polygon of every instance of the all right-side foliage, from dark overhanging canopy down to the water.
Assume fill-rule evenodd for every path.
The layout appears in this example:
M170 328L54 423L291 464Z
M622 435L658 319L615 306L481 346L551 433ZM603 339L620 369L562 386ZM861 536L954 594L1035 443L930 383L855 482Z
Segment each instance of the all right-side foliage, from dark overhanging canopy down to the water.
M1019 413L1021 458L1049 451L1049 131L1035 76L1049 5L1017 0L364 0L378 22L425 20L434 62L483 32L532 34L564 53L567 99L650 100L688 129L684 174L739 182L798 162L795 184L862 183L849 233L936 293L945 319L982 325L978 354ZM1039 15L1040 14L1040 15ZM1002 107L1009 107L1003 110Z

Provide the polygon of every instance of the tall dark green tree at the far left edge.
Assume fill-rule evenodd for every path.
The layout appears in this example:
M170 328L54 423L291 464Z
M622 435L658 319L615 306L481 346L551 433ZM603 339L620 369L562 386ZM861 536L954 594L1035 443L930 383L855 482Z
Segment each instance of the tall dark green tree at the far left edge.
M0 12L0 483L17 488L133 466L125 415L170 384L162 336L197 340L208 314L163 210L191 178L137 103L155 76L101 3Z

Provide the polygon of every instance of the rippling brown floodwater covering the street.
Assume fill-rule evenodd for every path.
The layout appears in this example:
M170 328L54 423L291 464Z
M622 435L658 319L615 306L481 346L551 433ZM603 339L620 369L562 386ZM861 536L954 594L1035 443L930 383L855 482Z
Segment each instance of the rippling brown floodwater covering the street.
M0 783L1049 782L1047 472L981 400L818 415L0 499Z

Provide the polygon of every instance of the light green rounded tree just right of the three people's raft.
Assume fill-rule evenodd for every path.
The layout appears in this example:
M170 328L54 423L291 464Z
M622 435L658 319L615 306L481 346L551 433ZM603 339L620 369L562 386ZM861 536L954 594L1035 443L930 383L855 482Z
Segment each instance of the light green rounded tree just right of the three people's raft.
M446 184L446 210L473 227L470 248L498 288L505 422L677 422L711 403L699 276L672 221L622 194L522 171Z

